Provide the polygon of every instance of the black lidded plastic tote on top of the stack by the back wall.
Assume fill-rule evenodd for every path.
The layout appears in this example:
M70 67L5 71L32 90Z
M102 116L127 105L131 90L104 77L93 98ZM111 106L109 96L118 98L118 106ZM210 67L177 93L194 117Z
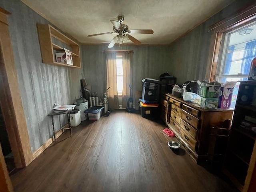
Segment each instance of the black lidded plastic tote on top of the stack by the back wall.
M154 79L142 80L142 99L159 102L161 82Z

